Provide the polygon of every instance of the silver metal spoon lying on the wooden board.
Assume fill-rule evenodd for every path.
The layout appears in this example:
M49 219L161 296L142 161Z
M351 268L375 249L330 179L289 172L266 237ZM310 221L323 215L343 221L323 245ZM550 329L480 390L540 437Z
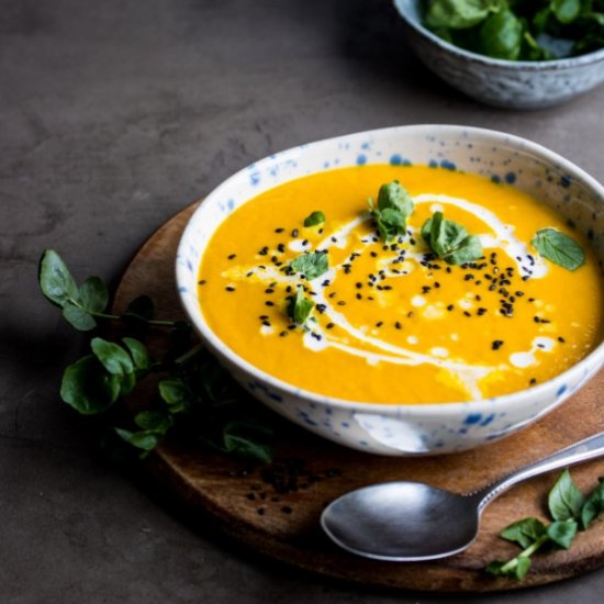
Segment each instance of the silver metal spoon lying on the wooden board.
M332 502L321 516L321 525L338 546L366 558L398 562L445 558L472 544L482 511L511 486L603 455L604 432L476 493L460 495L422 482L373 484Z

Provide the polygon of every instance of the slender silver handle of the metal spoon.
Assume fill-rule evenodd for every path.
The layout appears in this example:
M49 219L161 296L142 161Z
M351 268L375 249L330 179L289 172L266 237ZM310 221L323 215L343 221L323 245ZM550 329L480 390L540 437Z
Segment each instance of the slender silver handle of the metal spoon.
M580 461L586 461L588 459L594 459L596 457L604 456L604 432L594 434L584 440L579 440L569 447L560 449L559 451L551 454L538 461L534 461L519 470L515 470L510 474L497 480L493 484L489 484L485 489L482 489L473 496L480 499L478 504L479 514L491 503L496 496L501 495L507 489L514 486L518 482L523 482L529 478L544 474L558 468L564 468L579 463Z

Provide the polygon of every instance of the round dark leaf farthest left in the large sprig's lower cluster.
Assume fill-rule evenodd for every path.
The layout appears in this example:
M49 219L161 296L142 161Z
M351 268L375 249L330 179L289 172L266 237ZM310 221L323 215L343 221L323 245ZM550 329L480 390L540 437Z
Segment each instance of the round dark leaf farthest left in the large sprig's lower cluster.
M108 373L93 355L82 357L65 369L60 398L82 415L105 411L119 395L119 377Z

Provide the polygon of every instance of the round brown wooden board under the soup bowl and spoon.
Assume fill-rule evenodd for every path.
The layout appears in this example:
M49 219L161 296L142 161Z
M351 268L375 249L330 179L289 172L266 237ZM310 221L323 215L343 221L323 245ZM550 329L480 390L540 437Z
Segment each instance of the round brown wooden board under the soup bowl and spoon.
M121 311L139 295L150 295L159 317L181 316L174 265L182 228L194 206L161 226L125 271L114 306ZM604 372L572 400L517 435L471 451L428 458L380 457L343 448L279 420L278 458L269 467L209 452L194 443L168 440L148 458L147 468L202 522L270 558L332 578L399 590L489 592L539 585L604 566L604 522L596 521L570 550L534 558L522 581L484 573L495 558L517 547L497 537L525 516L547 518L546 500L559 472L512 489L484 512L480 535L465 552L433 562L395 563L347 553L323 535L318 518L333 499L381 481L416 480L470 492L527 462L544 457L604 426ZM138 394L144 396L144 394ZM134 401L135 405L144 400ZM249 404L258 404L253 400ZM597 484L604 460L572 469L583 491ZM455 518L451 518L455 523Z

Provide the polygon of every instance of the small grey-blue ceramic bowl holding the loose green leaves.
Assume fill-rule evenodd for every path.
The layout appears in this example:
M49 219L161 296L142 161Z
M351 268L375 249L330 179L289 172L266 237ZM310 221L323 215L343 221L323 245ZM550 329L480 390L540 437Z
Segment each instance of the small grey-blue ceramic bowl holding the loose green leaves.
M469 97L510 109L562 103L604 81L604 48L538 61L490 58L454 46L422 25L420 0L394 0L407 42L437 76Z

